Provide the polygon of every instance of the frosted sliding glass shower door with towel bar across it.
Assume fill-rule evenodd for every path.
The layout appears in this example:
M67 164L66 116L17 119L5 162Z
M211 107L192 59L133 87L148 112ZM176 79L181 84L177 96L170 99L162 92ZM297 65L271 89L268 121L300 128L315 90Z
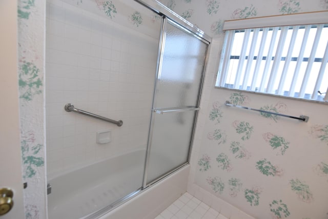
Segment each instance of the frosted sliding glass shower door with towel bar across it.
M166 18L144 187L188 163L209 43Z

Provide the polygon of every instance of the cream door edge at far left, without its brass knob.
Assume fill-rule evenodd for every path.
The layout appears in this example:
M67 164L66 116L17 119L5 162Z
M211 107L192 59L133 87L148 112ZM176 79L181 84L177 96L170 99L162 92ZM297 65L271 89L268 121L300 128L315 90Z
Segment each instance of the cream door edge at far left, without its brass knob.
M0 189L12 189L14 201L13 208L0 218L18 219L25 217L19 141L17 1L0 1L0 29Z

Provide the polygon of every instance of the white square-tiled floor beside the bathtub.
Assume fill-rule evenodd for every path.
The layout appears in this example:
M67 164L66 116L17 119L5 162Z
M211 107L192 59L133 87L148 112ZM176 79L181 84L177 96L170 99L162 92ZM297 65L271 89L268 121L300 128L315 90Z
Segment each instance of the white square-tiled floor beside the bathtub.
M228 219L188 192L178 198L155 219Z

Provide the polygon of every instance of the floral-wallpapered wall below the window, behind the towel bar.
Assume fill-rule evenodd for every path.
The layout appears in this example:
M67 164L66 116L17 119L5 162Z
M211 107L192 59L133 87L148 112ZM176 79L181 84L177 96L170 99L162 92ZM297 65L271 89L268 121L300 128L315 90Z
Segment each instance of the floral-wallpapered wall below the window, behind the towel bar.
M216 89L194 183L255 218L328 218L326 105ZM219 97L218 97L219 96ZM304 113L308 123L225 106ZM272 104L271 104L272 103ZM269 114L268 114L269 115ZM312 205L312 203L316 203Z

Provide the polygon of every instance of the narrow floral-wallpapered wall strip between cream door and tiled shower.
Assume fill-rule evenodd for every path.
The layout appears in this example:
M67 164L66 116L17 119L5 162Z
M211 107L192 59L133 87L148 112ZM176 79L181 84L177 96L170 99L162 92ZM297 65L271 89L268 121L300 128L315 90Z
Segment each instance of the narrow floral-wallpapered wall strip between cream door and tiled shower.
M44 42L45 2L18 1L18 85L25 217L46 218Z

